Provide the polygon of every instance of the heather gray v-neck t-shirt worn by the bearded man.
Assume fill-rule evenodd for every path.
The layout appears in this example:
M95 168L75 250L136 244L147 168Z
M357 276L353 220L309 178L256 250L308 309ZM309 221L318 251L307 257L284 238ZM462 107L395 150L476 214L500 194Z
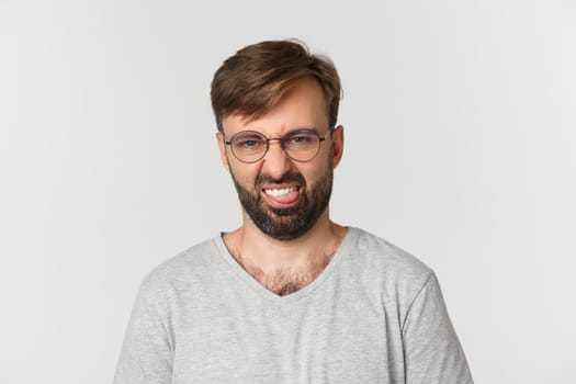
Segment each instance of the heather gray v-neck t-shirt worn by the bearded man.
M349 228L320 275L278 296L222 237L143 281L120 357L124 383L472 383L433 272Z

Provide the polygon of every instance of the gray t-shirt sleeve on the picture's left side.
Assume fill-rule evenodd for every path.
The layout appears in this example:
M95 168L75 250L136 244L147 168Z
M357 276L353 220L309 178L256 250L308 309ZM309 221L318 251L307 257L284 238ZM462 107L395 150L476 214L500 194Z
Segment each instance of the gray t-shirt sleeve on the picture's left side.
M143 282L122 346L114 384L171 382L173 339L165 295L149 280Z

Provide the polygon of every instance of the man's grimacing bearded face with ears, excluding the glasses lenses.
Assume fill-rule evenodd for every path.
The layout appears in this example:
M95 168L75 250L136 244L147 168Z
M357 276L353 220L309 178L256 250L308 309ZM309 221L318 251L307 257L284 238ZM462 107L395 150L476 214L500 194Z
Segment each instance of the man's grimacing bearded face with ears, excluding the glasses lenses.
M294 84L280 103L251 120L228 115L223 120L226 139L241 131L256 131L269 138L282 137L298 128L315 129L320 137L328 132L326 101L316 81L304 79ZM281 240L297 238L318 219L328 219L327 206L332 188L332 171L342 153L342 128L326 136L318 155L307 162L290 159L280 143L270 142L266 156L255 162L239 161L218 134L222 159L230 171L245 221L262 233Z

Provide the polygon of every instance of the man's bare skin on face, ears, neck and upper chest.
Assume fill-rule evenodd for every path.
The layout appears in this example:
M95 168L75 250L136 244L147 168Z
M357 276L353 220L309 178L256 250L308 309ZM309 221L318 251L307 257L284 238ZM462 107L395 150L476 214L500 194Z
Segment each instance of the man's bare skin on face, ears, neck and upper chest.
M326 100L319 84L313 79L302 79L266 114L258 118L230 114L223 118L223 127L226 137L231 137L240 131L257 131L267 137L281 137L302 127L315 127L324 135L328 132L326 111ZM301 188L298 193L307 193L318 185L323 178L326 180L327 172L332 172L340 162L343 128L336 127L331 137L328 135L321 143L318 155L308 162L291 160L278 142L271 142L263 159L256 163L244 163L234 157L229 146L224 145L221 133L216 134L216 139L223 165L231 173L235 182L251 193L262 194L264 205L274 206L279 203L266 196L260 187L294 187L294 182L280 185L264 183L257 187L257 178L267 176L273 180L282 180L286 174L300 173L306 188ZM302 196L298 195L297 199ZM297 204L297 200L294 204ZM262 233L242 208L242 225L226 234L224 242L240 266L257 281L270 291L284 295L307 285L325 269L346 230L330 221L327 207L302 236L278 239Z

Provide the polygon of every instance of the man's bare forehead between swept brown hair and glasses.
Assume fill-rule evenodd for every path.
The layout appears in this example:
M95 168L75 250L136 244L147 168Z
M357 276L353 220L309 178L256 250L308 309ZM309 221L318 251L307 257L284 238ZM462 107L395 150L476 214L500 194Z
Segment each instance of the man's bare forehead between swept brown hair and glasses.
M231 113L223 118L224 131L257 131L267 135L283 134L295 128L326 129L328 105L324 91L312 78L296 81L269 111L247 116Z

